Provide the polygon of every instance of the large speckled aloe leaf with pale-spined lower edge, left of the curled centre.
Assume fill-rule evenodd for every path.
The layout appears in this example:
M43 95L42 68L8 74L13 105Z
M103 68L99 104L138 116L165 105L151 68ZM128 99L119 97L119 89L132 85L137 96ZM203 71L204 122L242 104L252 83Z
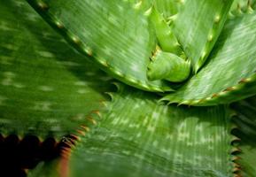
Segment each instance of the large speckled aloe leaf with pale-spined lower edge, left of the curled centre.
M166 81L148 81L155 35L144 11L120 0L27 0L76 50L93 56L107 73L139 89L172 90Z

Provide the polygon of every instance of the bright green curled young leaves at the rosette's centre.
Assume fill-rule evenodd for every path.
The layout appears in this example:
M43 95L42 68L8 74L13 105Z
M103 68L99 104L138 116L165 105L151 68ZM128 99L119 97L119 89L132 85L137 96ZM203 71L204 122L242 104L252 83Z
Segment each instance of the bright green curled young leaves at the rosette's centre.
M172 32L172 20L168 21L154 7L146 12L155 29L156 50L148 66L148 79L185 81L190 76L190 61L182 50L180 43Z

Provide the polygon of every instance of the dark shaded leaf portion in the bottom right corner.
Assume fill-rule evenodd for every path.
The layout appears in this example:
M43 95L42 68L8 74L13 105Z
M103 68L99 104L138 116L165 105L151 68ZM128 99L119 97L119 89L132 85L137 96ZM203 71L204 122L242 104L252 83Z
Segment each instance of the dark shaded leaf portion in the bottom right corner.
M234 118L237 124L236 135L241 139L238 144L241 154L237 157L239 173L245 177L252 177L256 173L256 97L248 98L232 105L237 112Z

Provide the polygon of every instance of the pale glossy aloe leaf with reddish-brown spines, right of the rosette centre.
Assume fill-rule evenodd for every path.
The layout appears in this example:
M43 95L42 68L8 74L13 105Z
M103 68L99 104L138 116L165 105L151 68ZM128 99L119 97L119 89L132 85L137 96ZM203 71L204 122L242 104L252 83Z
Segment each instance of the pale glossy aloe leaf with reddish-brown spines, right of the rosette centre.
M170 103L227 104L256 92L256 14L230 19L209 62L181 89L163 98Z

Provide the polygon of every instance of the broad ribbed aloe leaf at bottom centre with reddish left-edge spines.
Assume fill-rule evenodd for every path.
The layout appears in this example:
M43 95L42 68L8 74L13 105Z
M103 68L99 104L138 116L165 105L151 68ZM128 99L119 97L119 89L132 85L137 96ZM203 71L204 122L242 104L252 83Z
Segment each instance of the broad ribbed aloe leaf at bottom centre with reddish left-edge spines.
M160 105L119 85L109 112L68 150L69 176L229 176L229 110Z

